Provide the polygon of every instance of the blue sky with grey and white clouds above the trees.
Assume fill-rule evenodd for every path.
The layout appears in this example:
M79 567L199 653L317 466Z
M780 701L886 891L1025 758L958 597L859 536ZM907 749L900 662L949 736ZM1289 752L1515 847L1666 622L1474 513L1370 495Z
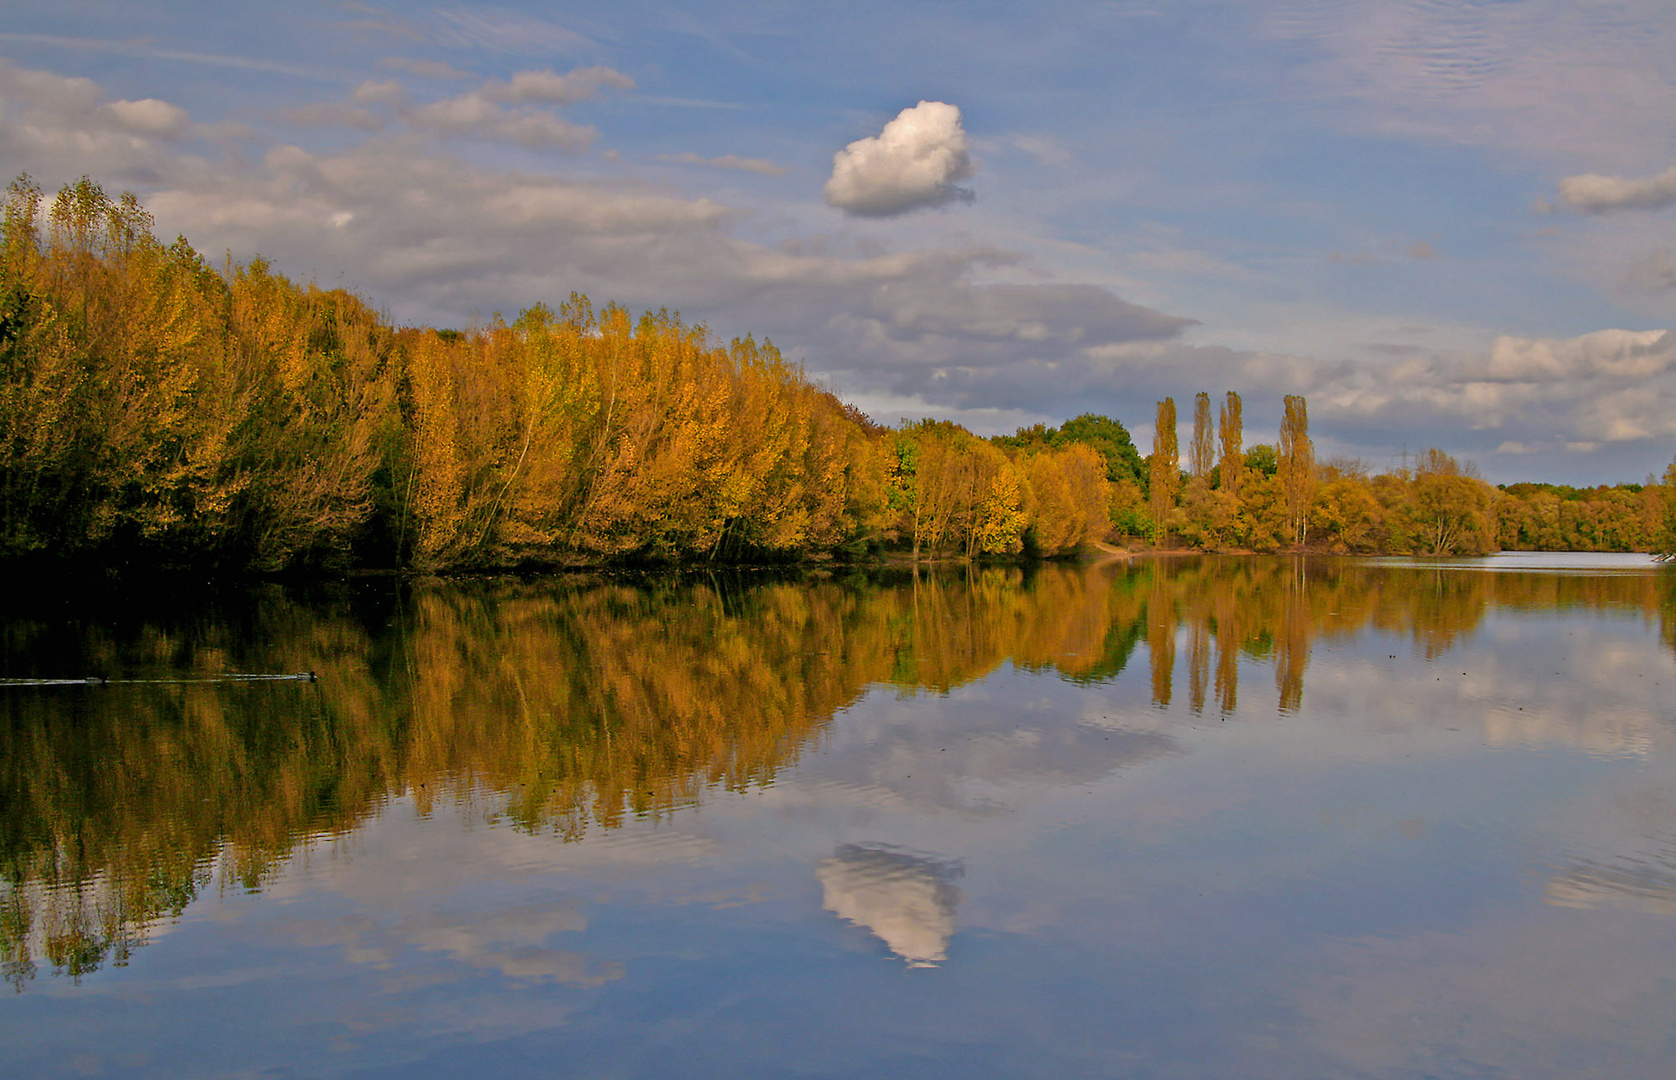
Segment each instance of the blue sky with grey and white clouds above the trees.
M575 290L1143 453L1232 389L1374 471L1676 454L1668 2L3 7L5 178L397 322Z

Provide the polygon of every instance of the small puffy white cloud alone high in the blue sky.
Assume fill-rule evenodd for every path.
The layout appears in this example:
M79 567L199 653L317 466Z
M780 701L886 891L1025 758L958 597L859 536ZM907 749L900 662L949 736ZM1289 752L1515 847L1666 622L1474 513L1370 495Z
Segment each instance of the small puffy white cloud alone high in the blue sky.
M856 139L833 156L826 201L872 218L970 201L972 193L955 186L977 171L969 149L960 109L922 101L877 136Z

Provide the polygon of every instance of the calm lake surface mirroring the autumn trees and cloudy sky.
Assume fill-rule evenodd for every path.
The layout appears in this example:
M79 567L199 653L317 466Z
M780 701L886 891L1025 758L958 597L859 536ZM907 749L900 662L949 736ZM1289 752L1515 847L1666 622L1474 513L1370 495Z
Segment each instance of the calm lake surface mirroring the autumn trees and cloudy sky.
M8 1077L1676 1075L1646 560L7 600L0 666L112 679L0 688Z

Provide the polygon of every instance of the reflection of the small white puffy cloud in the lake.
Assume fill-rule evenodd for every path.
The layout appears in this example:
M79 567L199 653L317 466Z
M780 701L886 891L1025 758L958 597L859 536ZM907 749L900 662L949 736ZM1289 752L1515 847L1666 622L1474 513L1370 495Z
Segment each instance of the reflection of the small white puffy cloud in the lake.
M949 959L959 862L887 844L843 844L815 874L826 911L873 931L910 968Z

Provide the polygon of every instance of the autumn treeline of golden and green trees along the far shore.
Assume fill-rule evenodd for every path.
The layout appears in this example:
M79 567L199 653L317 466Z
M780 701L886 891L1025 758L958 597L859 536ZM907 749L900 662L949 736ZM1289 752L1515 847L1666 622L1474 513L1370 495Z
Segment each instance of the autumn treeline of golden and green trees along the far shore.
M1148 460L1103 416L994 439L883 428L771 344L665 312L573 293L469 332L394 327L261 260L164 245L132 195L85 178L50 201L20 178L0 230L13 565L1054 557L1126 537L1621 550L1668 543L1676 505L1658 485L1495 491L1436 453L1393 476L1317 466L1301 397L1279 448L1247 451L1230 394L1212 461L1200 394L1185 481L1173 402Z

